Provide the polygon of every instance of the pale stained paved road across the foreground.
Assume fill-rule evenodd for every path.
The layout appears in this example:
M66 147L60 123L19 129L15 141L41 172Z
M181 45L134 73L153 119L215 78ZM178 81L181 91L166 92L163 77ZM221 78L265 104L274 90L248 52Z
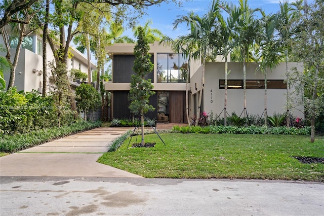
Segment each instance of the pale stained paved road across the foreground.
M1 177L1 215L323 215L324 184Z

